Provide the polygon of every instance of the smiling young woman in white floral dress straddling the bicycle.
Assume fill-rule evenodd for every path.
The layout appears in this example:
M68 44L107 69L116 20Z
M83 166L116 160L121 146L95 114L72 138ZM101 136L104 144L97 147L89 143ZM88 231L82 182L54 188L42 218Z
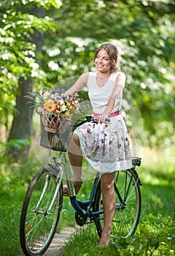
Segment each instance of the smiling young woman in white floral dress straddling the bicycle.
M94 63L97 71L82 74L66 94L74 94L86 86L98 124L85 123L78 127L71 137L68 153L76 193L82 186L82 155L94 170L101 173L104 230L98 245L104 246L112 241L109 236L115 208L115 172L129 169L132 165L128 132L120 115L125 75L120 72L117 48L109 43L101 45L96 50ZM106 124L105 118L110 118L111 124ZM66 189L64 187L64 191Z

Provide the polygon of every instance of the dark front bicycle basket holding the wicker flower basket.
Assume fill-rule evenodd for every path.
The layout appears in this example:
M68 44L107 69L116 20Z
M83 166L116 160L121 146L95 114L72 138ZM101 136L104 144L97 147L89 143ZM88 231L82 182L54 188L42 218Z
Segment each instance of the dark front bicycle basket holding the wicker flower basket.
M54 151L66 151L74 124L75 121L71 120L71 117L54 119L42 115L40 145Z

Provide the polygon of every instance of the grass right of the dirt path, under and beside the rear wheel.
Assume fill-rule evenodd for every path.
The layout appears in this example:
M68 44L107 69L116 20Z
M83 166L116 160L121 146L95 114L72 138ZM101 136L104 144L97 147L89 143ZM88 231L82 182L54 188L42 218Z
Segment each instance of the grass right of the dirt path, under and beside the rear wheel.
M96 247L98 236L92 225L77 230L64 248L64 255L174 255L174 153L144 151L138 173L141 178L140 225L133 238L114 238L106 248ZM148 161L149 160L149 161ZM81 248L81 249L80 249Z

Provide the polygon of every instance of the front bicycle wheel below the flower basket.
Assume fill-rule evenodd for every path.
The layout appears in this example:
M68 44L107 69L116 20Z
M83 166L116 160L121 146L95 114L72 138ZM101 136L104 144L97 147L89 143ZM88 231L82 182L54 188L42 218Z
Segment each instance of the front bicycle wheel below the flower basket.
M36 204L44 191L44 184L48 186L44 197L36 208ZM27 256L41 256L46 252L55 235L63 205L63 185L58 190L58 196L47 213L52 197L55 193L56 176L43 168L34 176L26 192L20 216L20 244Z

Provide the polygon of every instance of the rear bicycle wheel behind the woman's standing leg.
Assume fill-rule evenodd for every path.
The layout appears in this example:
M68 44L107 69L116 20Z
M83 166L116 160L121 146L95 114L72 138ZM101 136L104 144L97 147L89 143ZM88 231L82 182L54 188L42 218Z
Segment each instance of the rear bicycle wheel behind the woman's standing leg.
M114 189L116 210L112 221L112 235L123 236L125 238L133 236L139 224L141 214L141 190L139 176L134 169L116 172L114 184L117 185L117 189L125 203L125 207L122 207L116 189ZM101 184L99 181L96 189L93 211L101 211L102 209L103 199L101 195ZM98 236L101 237L101 232L104 226L104 214L99 214L96 217L95 224Z

